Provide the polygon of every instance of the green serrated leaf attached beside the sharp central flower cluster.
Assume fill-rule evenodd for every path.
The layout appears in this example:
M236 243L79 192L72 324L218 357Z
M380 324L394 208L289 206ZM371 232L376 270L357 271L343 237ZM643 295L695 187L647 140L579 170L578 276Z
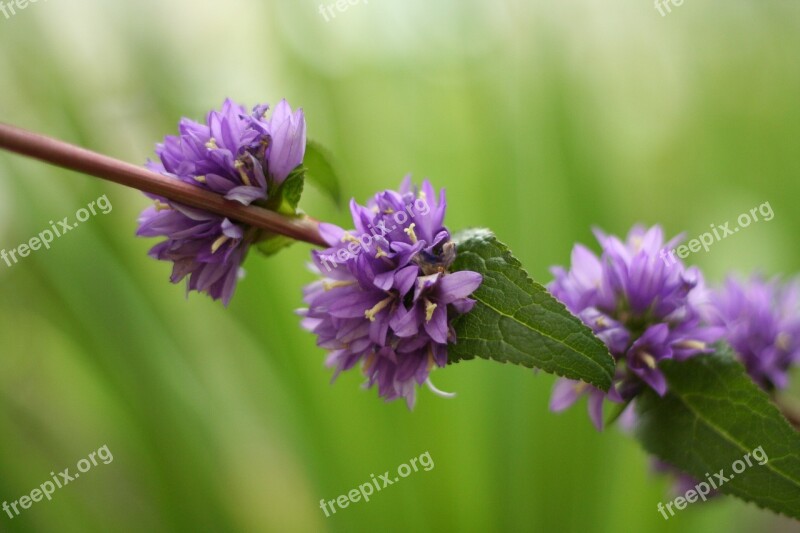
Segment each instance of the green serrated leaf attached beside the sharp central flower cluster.
M451 363L482 357L514 363L603 390L611 386L614 360L606 346L578 318L528 277L508 247L486 229L456 236L453 270L473 270L483 283L475 308L454 321L457 342Z

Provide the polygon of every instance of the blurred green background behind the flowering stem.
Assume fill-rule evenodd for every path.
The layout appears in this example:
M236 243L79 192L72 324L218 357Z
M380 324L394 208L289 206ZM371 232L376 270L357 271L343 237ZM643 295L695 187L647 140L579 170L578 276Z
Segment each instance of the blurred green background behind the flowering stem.
M330 0L326 0L326 4ZM765 201L775 218L690 258L800 266L800 4L51 0L0 15L0 120L143 163L182 115L286 97L337 155L347 197L413 172L446 187L452 229L491 227L539 281L590 229L694 237ZM230 308L184 297L134 238L146 199L0 154L0 248L107 194L98 215L0 263L0 500L103 444L114 456L2 531L798 531L734 499L669 522L668 483L553 378L475 361L409 412L331 386L294 309L296 245L251 254ZM303 206L347 224L322 194ZM596 247L595 247L596 248ZM369 503L333 499L429 451Z

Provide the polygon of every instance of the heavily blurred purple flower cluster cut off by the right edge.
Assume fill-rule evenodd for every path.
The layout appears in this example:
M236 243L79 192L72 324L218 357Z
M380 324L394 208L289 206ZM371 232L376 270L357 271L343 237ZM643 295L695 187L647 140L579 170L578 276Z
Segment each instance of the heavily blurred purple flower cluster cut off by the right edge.
M729 278L713 291L708 314L753 381L767 391L788 385L789 370L800 363L799 280Z

